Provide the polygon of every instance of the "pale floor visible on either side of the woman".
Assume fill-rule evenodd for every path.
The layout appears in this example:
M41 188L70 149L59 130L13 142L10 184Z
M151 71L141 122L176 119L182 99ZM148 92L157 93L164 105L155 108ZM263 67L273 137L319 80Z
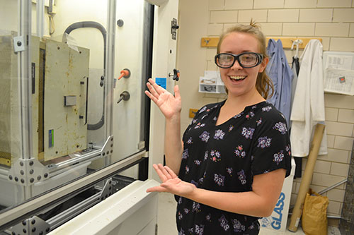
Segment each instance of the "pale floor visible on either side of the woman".
M158 212L158 235L176 235L176 200L171 193L159 193L159 212ZM261 229L260 235L303 235L301 227L296 232L284 231L276 232L270 229ZM341 235L339 230L329 227L328 235Z

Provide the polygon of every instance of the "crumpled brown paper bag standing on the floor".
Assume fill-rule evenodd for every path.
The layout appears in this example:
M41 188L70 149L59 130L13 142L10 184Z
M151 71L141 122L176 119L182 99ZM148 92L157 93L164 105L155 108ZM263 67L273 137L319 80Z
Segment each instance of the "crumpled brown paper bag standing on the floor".
M302 210L302 230L307 235L327 234L327 206L329 198L309 189Z

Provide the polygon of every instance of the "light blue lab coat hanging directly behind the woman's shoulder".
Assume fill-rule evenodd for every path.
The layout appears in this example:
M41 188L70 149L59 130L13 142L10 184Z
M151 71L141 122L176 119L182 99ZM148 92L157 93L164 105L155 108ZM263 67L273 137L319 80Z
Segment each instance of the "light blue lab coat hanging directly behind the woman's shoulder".
M270 39L267 54L270 59L265 71L273 80L274 85L273 96L268 99L268 102L284 114L287 126L290 126L292 78L294 74L287 64L285 52L282 49L282 41L275 42L275 40Z

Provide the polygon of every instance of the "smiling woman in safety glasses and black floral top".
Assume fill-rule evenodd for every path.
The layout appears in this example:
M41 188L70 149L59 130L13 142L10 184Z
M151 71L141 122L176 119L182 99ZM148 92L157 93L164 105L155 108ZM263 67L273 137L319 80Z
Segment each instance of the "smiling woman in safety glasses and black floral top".
M227 99L202 107L182 142L178 85L172 95L147 83L166 118L166 166L154 165L163 183L147 191L176 195L180 234L258 234L291 169L286 121L265 101L265 37L254 23L236 25L220 37L215 63Z

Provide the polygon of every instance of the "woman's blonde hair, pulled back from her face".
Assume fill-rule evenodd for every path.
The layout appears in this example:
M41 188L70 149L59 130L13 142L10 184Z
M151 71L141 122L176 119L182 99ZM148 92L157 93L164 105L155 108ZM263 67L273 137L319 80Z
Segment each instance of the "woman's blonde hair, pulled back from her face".
M219 43L217 44L217 54L220 53L220 47L224 38L232 32L244 32L253 35L253 37L258 40L259 52L263 54L263 58L269 57L265 46L265 36L263 35L263 32L261 32L261 27L253 20L251 20L249 25L235 25L234 27L227 29L226 32L222 33L219 37ZM268 77L267 73L265 73L265 69L262 73L258 73L256 89L265 100L273 95L273 81Z

